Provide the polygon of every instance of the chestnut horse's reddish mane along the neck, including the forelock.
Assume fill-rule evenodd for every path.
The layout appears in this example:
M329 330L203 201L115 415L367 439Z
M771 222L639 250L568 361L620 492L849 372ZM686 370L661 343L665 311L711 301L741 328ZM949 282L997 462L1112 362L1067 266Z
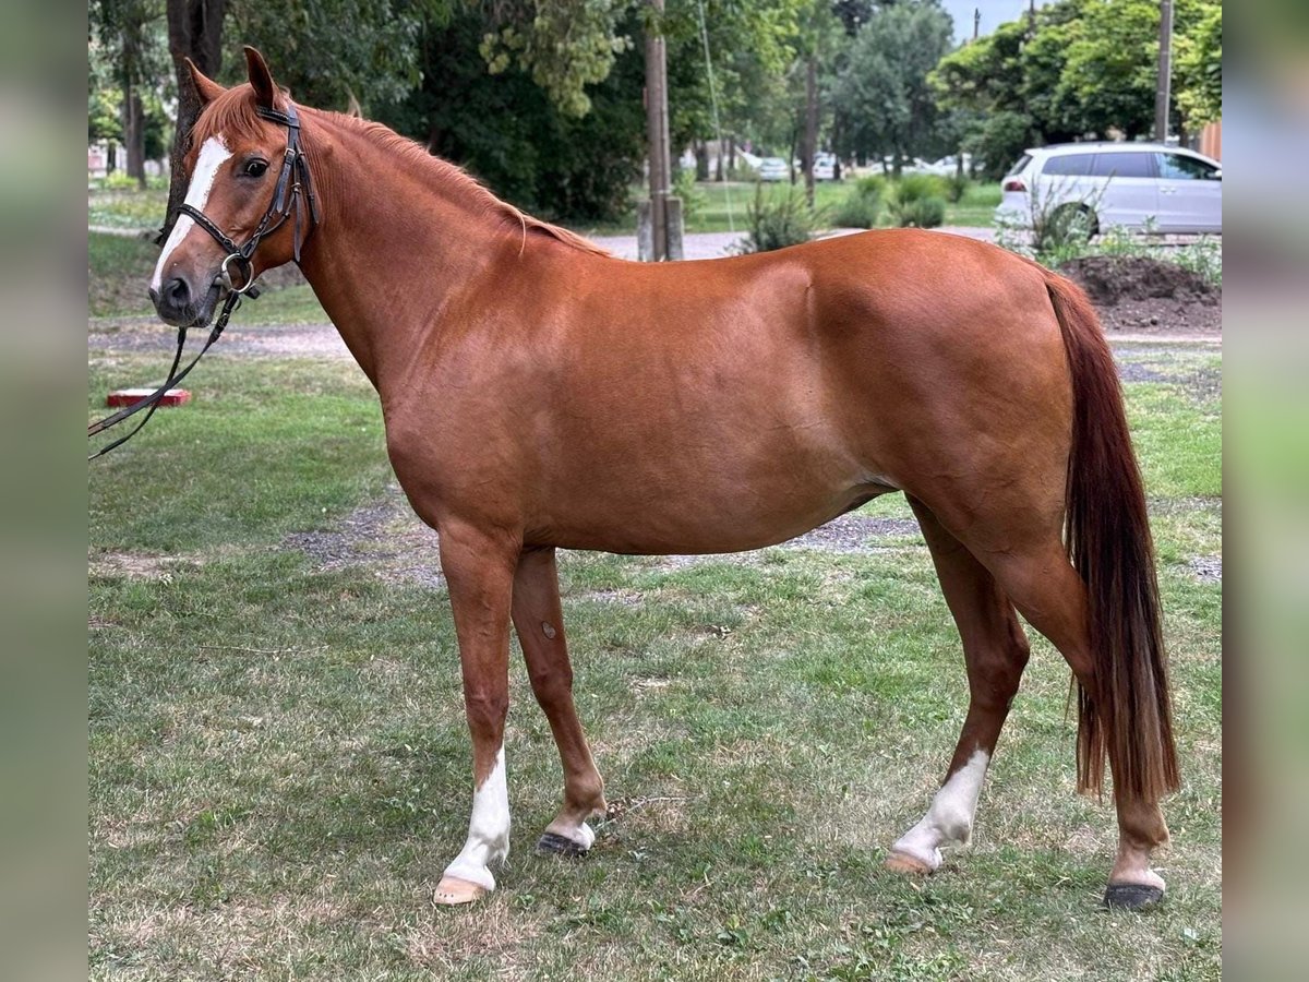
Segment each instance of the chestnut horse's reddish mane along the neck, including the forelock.
M558 242L593 255L611 255L606 249L601 249L594 242L589 242L575 232L569 232L548 221L534 219L524 211L503 202L491 192L480 181L469 174L463 168L450 164L440 157L433 157L420 143L401 136L393 130L347 113L334 113L323 109L308 109L302 111L305 117L323 117L346 130L364 134L370 140L380 143L398 160L408 162L427 177L433 187L445 187L456 194L462 194L479 204L487 213L499 216L505 223L522 229L524 247L528 244L528 234L535 233L554 238ZM195 127L191 130L191 145L199 147L208 137L217 134L232 134L238 137L254 139L259 135L266 120L255 111L254 89L249 85L234 85L200 113ZM305 134L305 145L312 149L313 135Z

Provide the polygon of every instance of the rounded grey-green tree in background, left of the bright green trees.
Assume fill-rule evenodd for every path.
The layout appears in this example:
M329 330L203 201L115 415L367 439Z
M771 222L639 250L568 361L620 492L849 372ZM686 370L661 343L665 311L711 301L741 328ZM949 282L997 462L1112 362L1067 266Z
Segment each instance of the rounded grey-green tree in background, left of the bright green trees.
M899 173L906 160L942 149L927 76L950 50L953 33L935 0L905 0L872 16L834 90L848 120L844 151L890 157Z

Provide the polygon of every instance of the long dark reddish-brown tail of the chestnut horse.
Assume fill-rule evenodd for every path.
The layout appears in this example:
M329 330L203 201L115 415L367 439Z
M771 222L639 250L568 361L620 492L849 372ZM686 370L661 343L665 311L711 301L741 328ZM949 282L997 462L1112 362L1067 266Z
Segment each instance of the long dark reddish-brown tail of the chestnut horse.
M1079 287L1045 276L1072 373L1064 532L1086 584L1097 690L1077 686L1077 790L1102 790L1107 754L1118 793L1156 801L1181 779L1145 490L1100 319Z

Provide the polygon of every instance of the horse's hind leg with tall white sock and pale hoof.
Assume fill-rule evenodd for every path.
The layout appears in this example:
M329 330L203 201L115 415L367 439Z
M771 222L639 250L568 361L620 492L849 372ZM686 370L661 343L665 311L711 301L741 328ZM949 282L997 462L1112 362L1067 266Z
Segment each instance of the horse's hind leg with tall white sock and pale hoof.
M942 847L966 845L971 838L978 796L1029 648L1013 605L995 577L922 501L908 500L963 642L970 693L969 712L940 791L886 859L895 872L929 873L940 867Z

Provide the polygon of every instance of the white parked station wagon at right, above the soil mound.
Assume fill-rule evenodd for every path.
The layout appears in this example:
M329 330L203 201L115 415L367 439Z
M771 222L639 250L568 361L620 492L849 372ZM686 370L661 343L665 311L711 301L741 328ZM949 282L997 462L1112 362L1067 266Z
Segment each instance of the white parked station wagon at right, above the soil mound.
M996 219L1030 225L1038 212L1076 208L1092 233L1223 230L1223 166L1158 143L1067 143L1024 153L1000 185Z

